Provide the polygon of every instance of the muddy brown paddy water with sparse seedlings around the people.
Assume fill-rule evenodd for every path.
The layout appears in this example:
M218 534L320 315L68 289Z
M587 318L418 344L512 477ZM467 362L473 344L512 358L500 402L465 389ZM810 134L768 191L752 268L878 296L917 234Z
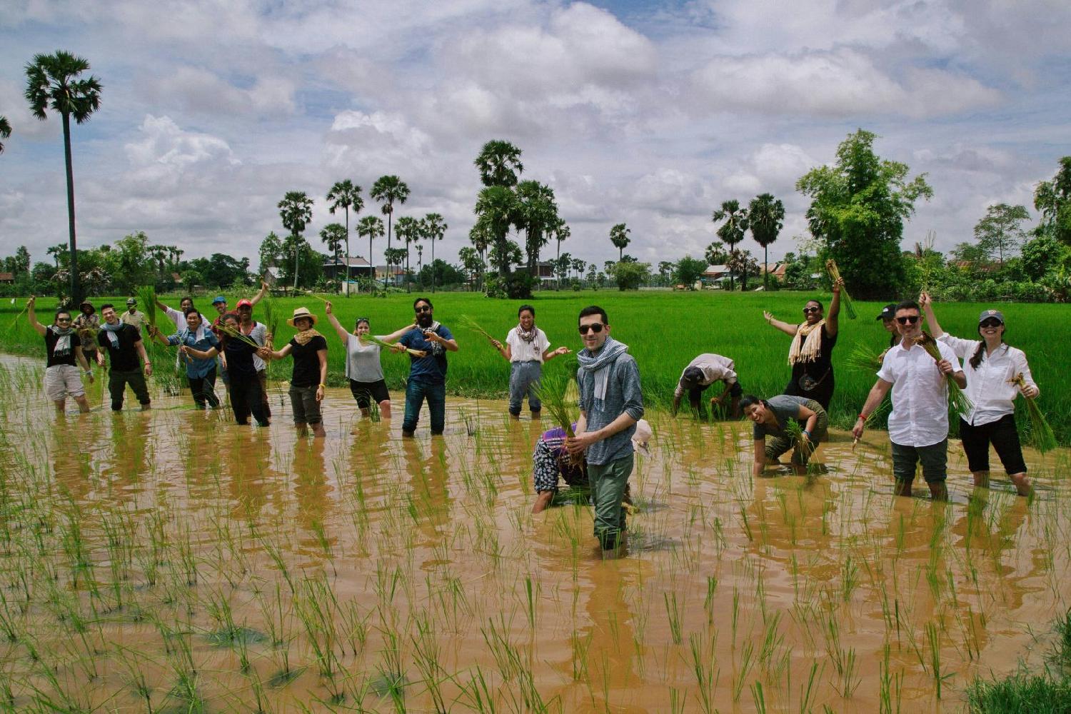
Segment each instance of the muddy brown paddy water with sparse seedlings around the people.
M322 440L188 395L58 419L3 358L0 696L104 711L962 711L1041 667L1071 592L1067 450L1032 501L892 496L888 440L752 478L745 424L653 414L624 557L590 508L532 516L552 425L449 398L401 438L328 390ZM916 490L925 486L921 478ZM938 686L939 685L939 686ZM939 689L939 696L938 696Z

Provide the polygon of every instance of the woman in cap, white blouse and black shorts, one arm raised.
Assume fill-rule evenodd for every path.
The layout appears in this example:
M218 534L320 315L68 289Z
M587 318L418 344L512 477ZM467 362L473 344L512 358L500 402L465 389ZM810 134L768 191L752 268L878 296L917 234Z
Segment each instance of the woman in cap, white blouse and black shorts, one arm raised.
M974 406L970 413L960 414L960 439L967 454L967 467L975 475L975 485L983 488L990 485L992 443L1020 496L1029 496L1030 482L1026 477L1026 462L1015 429L1014 401L1019 394L1036 397L1039 390L1030 376L1026 354L1004 341L1004 314L997 309L982 310L978 317L981 339L962 339L941 330L927 293L919 297L919 303L933 335L964 360L966 395ZM1022 388L1015 383L1020 375L1023 376Z

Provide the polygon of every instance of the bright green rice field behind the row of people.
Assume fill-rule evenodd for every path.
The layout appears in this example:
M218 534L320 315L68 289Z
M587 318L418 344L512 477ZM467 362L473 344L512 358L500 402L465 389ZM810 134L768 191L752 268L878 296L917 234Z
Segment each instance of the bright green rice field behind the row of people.
M338 298L335 314L342 323L351 326L357 317L372 320L377 334L392 332L412 320L412 295L394 294L386 299L364 297ZM722 293L722 292L541 292L532 300L539 324L552 345L565 345L574 350L580 347L576 334L576 314L590 304L606 309L614 336L630 346L639 364L644 393L650 406L667 405L673 398L677 378L688 362L700 352L718 352L736 361L737 371L744 392L760 396L780 394L788 380L786 363L788 338L768 326L763 310L769 309L782 320L801 319L800 309L811 293ZM231 304L239 295L229 295ZM828 305L828 294L819 294ZM125 299L116 299L121 305ZM506 333L516 324L516 310L521 301L489 300L471 293L438 293L433 298L436 318L450 328L461 346L461 351L450 355L448 389L467 396L500 397L507 392L509 365L486 340L477 333L461 326L458 317L467 315L495 335ZM96 304L105 302L104 299ZM168 304L178 304L178 297L165 298ZM4 301L0 313L0 336L6 351L27 354L41 353L41 338L29 328L25 317L14 321L25 301L15 304ZM39 313L48 316L50 303L41 301ZM275 299L281 313L289 315L299 305L307 306L320 318L318 326L328 337L329 383L342 385L344 381L344 351L330 324L323 319L323 303L312 295ZM937 316L942 326L954 335L969 337L975 334L978 313L990 305L980 303L950 303L937 305ZM198 307L206 315L214 314L202 298ZM873 375L862 374L847 365L847 358L856 344L864 344L879 351L888 344L886 333L874 317L879 303L856 303L858 320L848 320L842 314L841 333L834 352L836 393L831 405L833 425L849 427L873 383ZM1066 339L1054 339L1066 333L1067 307L1062 305L1002 304L1009 324L1008 340L1026 351L1034 377L1041 388L1040 404L1061 444L1071 443L1071 395L1068 390L1066 365L1071 364L1071 345ZM254 313L254 318L262 317ZM292 330L281 329L282 339L289 339ZM383 371L390 389L401 390L408 374L408 358L384 354ZM575 365L571 358L558 359L547 369L565 369ZM273 377L286 379L289 362L275 365ZM1019 400L1019 423L1026 427L1023 400Z

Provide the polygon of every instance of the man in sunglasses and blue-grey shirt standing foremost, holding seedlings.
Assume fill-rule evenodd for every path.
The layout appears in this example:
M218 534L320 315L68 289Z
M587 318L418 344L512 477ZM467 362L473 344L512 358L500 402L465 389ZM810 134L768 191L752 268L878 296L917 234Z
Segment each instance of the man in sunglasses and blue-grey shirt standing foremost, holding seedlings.
M621 499L632 474L632 437L644 415L639 369L629 347L609 335L606 310L594 305L580 310L584 349L576 359L580 417L576 436L567 440L570 454L587 452L588 484L594 501L594 533L603 553L613 557L624 535Z

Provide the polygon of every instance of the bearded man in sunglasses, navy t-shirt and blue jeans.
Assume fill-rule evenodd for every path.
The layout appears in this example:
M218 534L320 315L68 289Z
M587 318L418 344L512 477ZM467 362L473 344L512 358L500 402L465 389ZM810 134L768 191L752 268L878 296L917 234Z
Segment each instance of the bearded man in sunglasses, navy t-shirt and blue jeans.
M434 319L432 301L417 298L412 303L417 326L402 335L399 344L425 352L425 356L409 354L409 380L405 389L405 417L402 436L411 437L417 430L420 408L427 399L432 412L432 435L442 434L447 422L447 351L456 352L457 341L444 325Z

